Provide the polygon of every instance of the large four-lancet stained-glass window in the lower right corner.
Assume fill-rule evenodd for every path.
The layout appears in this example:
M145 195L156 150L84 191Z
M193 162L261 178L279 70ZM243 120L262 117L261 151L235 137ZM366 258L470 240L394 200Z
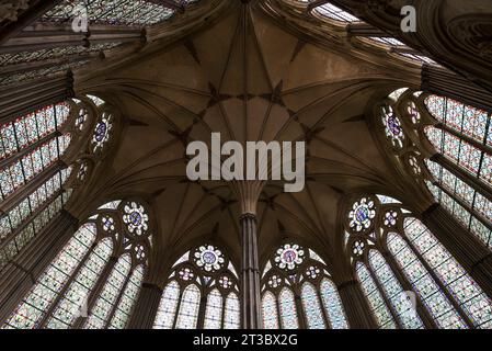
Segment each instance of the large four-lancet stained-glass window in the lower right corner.
M373 224L357 231L346 220L345 252L379 327L485 328L492 302L434 235L387 195L348 199L346 212L363 197L374 201Z

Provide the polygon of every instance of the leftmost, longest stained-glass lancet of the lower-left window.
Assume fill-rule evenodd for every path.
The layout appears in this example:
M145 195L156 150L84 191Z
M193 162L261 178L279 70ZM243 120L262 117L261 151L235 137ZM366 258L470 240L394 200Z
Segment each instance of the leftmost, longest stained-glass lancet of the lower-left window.
M55 302L83 257L95 240L95 226L87 224L58 253L46 271L37 279L3 328L33 329L38 327L49 306Z

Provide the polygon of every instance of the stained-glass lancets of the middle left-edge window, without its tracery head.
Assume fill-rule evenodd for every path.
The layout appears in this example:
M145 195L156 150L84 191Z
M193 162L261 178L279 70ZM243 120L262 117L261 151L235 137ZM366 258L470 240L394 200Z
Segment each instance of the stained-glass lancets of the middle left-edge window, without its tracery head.
M59 102L0 125L0 270L31 242L71 195L72 167L60 158L75 104Z

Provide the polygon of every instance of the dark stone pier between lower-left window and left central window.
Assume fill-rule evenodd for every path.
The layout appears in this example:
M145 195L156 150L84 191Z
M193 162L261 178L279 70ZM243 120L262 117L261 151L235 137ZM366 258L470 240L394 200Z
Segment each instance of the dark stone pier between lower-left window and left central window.
M126 327L128 329L151 329L156 320L161 298L162 290L159 286L149 283L141 284L140 292L130 310ZM176 315L178 309L173 316L174 319L176 318Z

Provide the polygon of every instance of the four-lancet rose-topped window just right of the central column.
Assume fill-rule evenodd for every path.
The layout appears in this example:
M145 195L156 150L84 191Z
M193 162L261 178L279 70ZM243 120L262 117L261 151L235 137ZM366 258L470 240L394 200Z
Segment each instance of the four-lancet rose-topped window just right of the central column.
M337 290L323 259L297 242L278 246L262 273L265 329L345 329Z

